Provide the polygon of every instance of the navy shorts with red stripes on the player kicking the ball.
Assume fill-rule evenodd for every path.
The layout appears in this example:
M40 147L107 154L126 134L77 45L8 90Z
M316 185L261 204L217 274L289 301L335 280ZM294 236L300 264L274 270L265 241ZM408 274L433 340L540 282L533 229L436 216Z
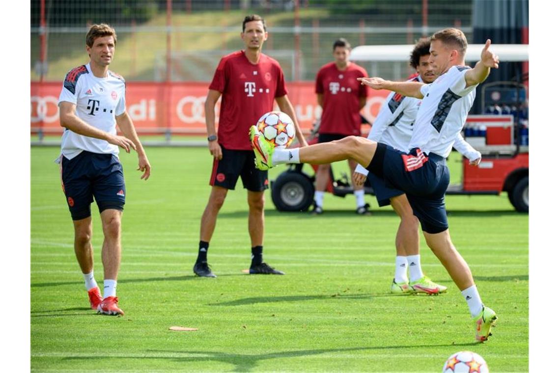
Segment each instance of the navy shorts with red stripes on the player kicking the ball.
M445 191L449 185L449 169L445 158L426 155L414 148L410 153L377 143L370 172L385 185L407 193L414 215L427 233L440 233L449 228L445 212Z

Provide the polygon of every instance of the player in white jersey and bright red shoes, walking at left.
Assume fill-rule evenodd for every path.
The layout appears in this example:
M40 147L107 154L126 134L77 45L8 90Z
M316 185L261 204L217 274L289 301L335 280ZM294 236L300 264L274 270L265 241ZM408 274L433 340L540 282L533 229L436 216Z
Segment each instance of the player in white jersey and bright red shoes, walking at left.
M150 177L151 166L125 108L124 79L109 70L116 44L115 30L101 23L86 35L87 65L72 69L64 79L58 100L64 127L60 163L62 189L74 223L74 252L85 279L90 306L98 313L124 315L116 298L120 266L120 221L125 185L119 147L138 153L141 178ZM116 134L116 126L124 136ZM103 298L94 277L90 205L95 202L104 234L101 261Z

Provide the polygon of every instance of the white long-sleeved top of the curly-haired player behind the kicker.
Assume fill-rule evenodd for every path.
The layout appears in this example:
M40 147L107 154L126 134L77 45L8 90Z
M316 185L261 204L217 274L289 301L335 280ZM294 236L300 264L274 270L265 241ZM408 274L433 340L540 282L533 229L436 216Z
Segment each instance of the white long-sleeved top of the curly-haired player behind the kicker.
M422 82L422 79L418 76L409 79L408 82ZM408 152L413 148L409 146L409 143L421 103L422 100L419 98L402 96L391 92L381 107L374 124L371 126L371 131L367 138L389 145L402 152ZM467 143L460 133L456 136L452 146L469 160L481 157L480 152ZM356 167L356 172L368 174L367 169L361 166L361 164L358 164Z

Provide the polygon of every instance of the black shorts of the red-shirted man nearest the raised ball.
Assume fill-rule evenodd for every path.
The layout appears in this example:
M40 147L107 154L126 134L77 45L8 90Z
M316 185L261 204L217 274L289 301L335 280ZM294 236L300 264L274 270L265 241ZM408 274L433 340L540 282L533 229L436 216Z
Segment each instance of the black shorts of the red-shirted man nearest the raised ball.
M234 190L240 176L246 190L262 192L268 189L268 171L255 168L253 150L230 150L222 147L222 159L214 159L210 185Z

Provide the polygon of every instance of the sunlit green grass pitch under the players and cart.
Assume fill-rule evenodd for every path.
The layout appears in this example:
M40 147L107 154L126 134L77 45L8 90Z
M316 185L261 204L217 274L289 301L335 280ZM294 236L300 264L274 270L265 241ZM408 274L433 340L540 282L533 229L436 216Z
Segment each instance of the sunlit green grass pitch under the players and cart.
M264 259L286 276L249 276L239 182L208 253L218 277L198 278L192 266L209 195L208 150L148 148L147 182L136 155L122 152L127 205L117 293L125 316L108 317L88 309L53 163L58 153L31 148L32 371L438 372L463 350L483 356L492 372L529 369L528 215L516 213L506 195L447 197L451 237L499 317L490 340L477 344L459 290L423 241L424 273L448 293L389 294L399 221L389 207L357 216L353 196L328 195L322 216L279 213L267 192ZM449 164L457 181L459 163ZM366 200L377 206L373 196ZM102 283L95 204L92 211ZM172 332L172 325L198 331Z

